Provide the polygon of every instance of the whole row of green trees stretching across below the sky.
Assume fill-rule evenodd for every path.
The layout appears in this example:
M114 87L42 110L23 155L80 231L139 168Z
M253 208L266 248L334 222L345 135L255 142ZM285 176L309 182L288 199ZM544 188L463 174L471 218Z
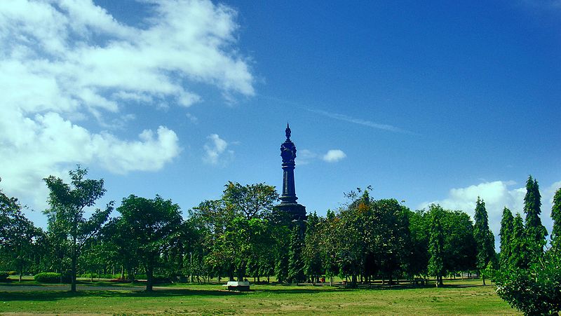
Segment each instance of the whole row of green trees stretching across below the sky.
M443 277L477 273L484 284L490 277L508 289L508 276L538 270L536 265L546 255L553 257L561 242L561 193L555 194L549 249L532 177L525 221L504 209L499 255L479 198L472 221L459 210L430 205L412 211L396 199L371 198L370 188L358 189L346 194L349 202L343 207L302 221L276 211L273 186L229 182L221 198L205 200L187 214L159 195L130 195L115 208L118 217L110 218L114 202L86 217L86 209L105 193L103 180L86 179L86 174L81 167L72 170L69 184L44 179L50 191L47 231L23 216L18 200L0 194L0 269L20 275L58 272L61 280L69 275L72 290L76 275L83 273L118 273L122 280L142 274L148 290L154 280L177 277L261 282L275 276L278 282L316 283L339 276L356 287L431 276L438 286Z

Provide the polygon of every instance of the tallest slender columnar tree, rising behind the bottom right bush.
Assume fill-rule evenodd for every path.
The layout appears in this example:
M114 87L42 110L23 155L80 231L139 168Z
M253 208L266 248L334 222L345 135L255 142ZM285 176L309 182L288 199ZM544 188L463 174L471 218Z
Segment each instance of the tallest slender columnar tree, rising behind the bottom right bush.
M539 193L538 181L528 177L526 181L526 195L524 197L524 212L526 214L525 231L528 239L529 258L532 261L543 254L543 246L546 245L546 227L541 224L541 195Z

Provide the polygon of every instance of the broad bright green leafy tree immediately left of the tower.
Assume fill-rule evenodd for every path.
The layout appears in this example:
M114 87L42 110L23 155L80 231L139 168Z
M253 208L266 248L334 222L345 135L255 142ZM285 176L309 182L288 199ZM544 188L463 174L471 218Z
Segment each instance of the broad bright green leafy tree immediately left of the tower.
M265 243L271 242L270 237L274 237L274 233L259 239L253 238L255 236L252 237L250 231L269 231L269 219L278 193L274 186L266 184L242 186L229 181L224 187L222 198L201 202L192 210L191 217L200 221L208 233L206 261L219 270L227 271L230 280L234 280L234 273L239 279L248 272L255 275L260 267L265 266L258 260L256 252ZM254 219L257 221L252 221ZM266 265L272 266L270 263Z

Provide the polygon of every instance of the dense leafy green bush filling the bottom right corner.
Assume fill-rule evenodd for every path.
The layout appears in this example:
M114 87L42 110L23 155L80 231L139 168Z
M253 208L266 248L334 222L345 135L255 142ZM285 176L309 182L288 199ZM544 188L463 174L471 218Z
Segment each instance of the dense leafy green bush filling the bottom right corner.
M529 269L496 273L496 292L525 315L557 315L561 310L561 257L550 256Z

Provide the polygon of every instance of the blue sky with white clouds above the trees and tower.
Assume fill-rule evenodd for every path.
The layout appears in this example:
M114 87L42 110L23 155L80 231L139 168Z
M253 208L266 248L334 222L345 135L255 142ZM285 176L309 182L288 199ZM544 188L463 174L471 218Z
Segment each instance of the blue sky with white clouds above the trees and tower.
M117 204L280 190L290 122L309 212L367 185L411 209L480 195L497 233L532 174L550 231L557 0L3 1L0 40L0 186L40 226L41 179L77 163Z

